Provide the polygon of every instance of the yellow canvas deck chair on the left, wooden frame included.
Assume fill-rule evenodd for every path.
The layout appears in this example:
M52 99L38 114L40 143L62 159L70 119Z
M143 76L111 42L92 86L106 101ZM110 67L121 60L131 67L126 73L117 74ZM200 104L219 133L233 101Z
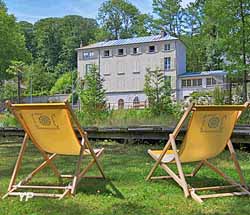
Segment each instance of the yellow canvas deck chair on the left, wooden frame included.
M86 173L96 164L101 176L91 178L105 178L104 172L99 164L98 158L103 153L102 149L92 149L87 133L83 131L76 116L67 102L50 104L11 104L7 102L8 108L15 115L25 131L25 137L18 155L18 159L10 180L7 196L20 196L20 198L31 198L35 196L54 197L62 199L66 195L74 195L76 187L82 178L87 178ZM78 140L73 125L81 135ZM16 177L21 167L22 158L27 147L28 140L41 152L44 162L34 169L28 177L16 184ZM76 170L72 175L62 175L53 164L53 159L57 155L76 155L79 157ZM83 156L90 155L92 160L81 170ZM28 182L44 167L49 166L54 174L61 181L68 178L71 183L68 186L34 186ZM90 176L89 176L90 177ZM24 192L24 190L59 190L58 193ZM20 191L21 190L21 191ZM26 196L25 196L26 195Z

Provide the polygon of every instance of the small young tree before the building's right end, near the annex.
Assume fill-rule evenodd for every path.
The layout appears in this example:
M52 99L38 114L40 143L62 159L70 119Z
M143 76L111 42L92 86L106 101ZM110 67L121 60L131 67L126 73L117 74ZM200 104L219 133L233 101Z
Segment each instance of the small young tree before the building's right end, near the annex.
M160 69L147 69L144 92L148 97L149 108L154 114L172 111L170 80Z

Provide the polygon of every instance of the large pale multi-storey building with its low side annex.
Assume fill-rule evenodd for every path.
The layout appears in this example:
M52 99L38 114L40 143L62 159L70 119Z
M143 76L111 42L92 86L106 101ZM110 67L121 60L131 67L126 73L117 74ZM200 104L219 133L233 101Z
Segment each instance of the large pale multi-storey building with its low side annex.
M147 68L164 71L171 79L173 97L177 100L183 100L194 90L207 88L209 82L205 84L208 80L205 77L216 79L216 83L224 81L223 71L186 73L185 46L169 35L103 41L80 47L77 52L79 77L84 79L96 65L104 78L107 101L115 109L145 106L147 98L143 89Z

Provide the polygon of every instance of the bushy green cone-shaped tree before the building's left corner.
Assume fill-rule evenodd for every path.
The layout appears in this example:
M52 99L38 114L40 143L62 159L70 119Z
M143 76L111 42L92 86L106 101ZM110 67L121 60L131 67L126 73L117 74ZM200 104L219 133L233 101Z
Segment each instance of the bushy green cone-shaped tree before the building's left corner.
M78 115L85 124L93 124L108 113L103 79L96 66L84 78L83 89L79 89L81 112Z

